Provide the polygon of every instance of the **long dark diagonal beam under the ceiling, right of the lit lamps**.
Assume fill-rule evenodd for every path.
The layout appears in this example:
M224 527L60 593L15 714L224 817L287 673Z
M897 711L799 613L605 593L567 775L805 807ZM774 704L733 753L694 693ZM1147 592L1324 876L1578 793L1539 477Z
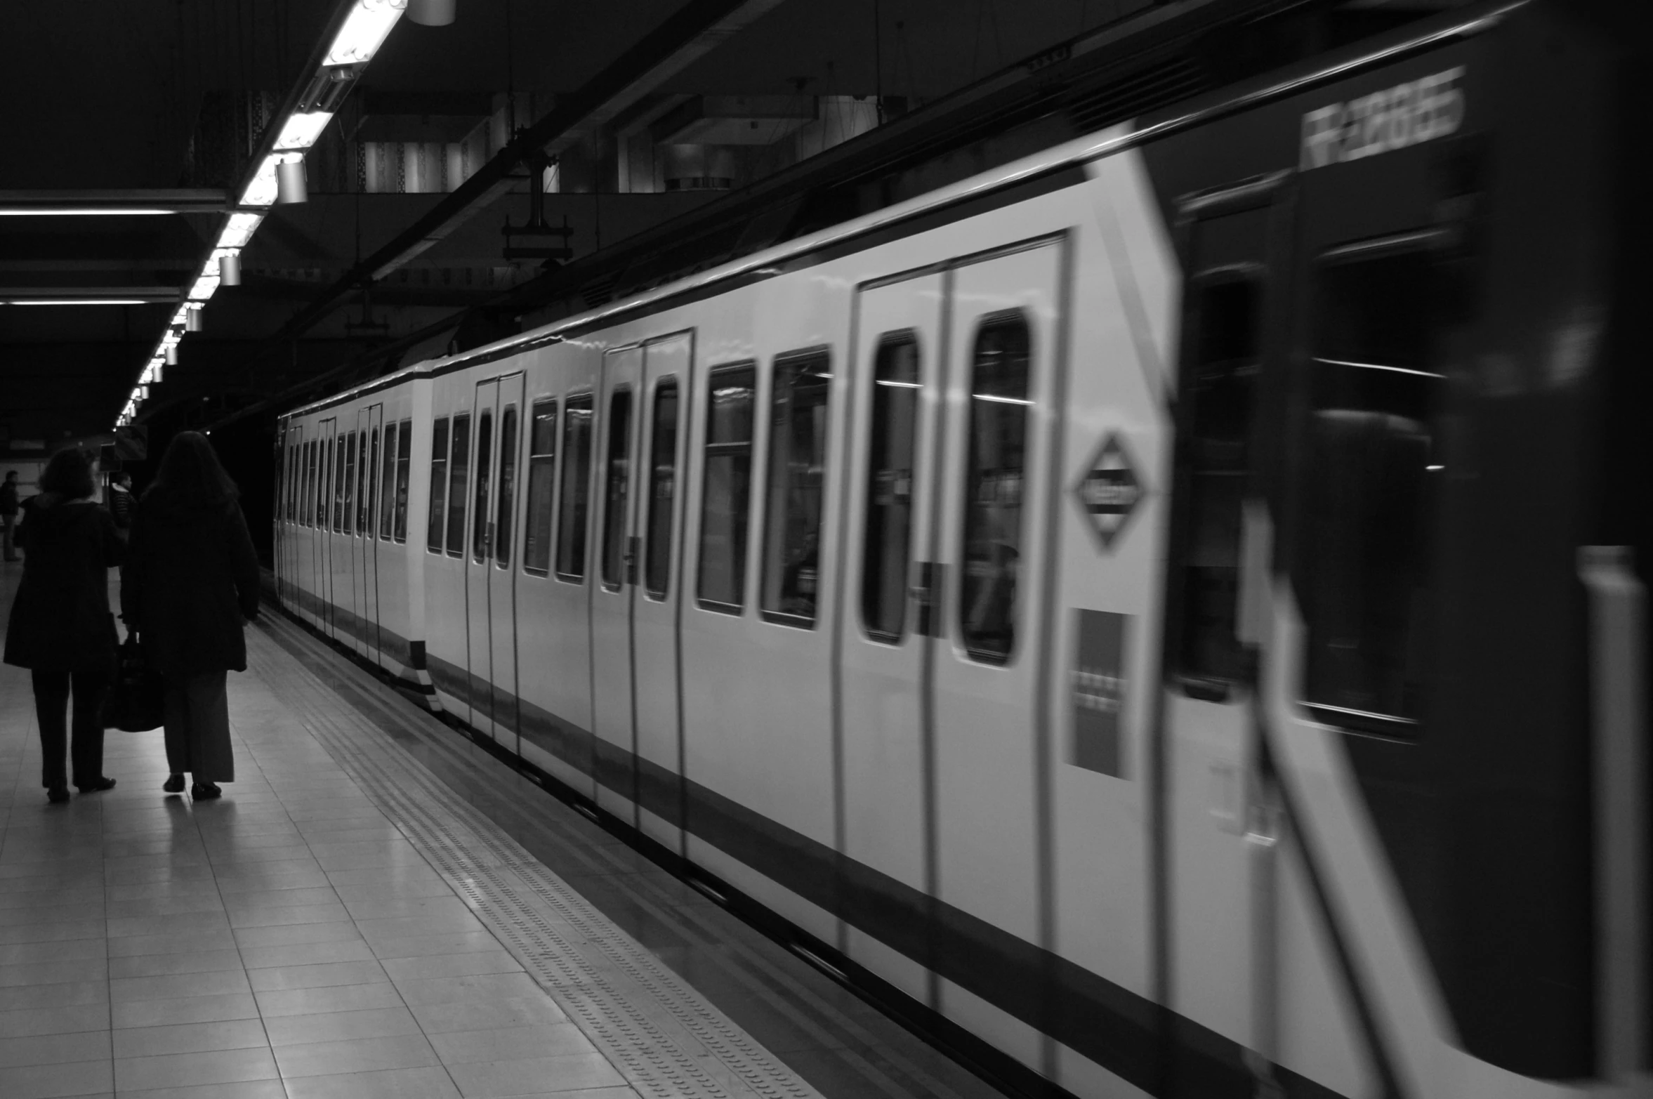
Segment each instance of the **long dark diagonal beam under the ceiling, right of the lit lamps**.
M597 76L560 96L545 116L519 131L464 183L322 291L273 339L289 340L302 334L347 294L390 274L448 236L476 210L507 193L517 182L511 177L524 159L537 152L555 155L567 149L580 134L625 111L780 3L782 0L689 0Z

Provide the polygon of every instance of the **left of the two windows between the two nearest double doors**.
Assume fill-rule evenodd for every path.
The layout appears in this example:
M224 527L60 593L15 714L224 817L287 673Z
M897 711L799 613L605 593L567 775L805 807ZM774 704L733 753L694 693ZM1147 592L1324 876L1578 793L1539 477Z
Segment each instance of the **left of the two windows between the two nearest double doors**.
M699 603L739 613L746 605L746 524L752 484L752 365L711 373L706 402L706 483L701 489Z

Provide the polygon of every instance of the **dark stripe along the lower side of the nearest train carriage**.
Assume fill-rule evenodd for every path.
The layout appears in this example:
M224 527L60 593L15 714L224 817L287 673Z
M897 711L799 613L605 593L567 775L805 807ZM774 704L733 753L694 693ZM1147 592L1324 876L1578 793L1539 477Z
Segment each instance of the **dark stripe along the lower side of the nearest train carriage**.
M428 659L436 686L453 697L469 697L469 674L441 658ZM1160 1010L1152 1000L871 866L843 858L826 844L636 757L626 747L593 737L590 730L532 702L514 699L514 704L521 706L524 740L625 798L641 798L643 808L660 818L686 828L1131 1084L1150 1094L1251 1099L1256 1079L1245 1066L1243 1048L1230 1038L1174 1015L1174 1079L1165 1081L1157 1035ZM1291 1069L1276 1066L1274 1074L1288 1096L1337 1096Z

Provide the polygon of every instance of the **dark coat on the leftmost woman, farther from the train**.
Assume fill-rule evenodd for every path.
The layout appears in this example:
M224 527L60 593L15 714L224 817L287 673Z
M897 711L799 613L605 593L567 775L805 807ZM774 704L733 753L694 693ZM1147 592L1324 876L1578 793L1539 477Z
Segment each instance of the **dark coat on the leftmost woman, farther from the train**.
M5 663L41 671L114 668L109 569L121 564L114 522L91 501L46 492L23 504L17 540L28 550L12 600Z

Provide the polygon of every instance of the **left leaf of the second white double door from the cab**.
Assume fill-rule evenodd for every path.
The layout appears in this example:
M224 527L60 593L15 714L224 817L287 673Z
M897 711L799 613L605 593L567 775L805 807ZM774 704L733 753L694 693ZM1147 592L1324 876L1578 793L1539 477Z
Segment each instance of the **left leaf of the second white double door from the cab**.
M631 509L638 392L643 347L603 355L597 392L600 459L597 484L597 583L592 585L592 732L597 759L597 803L636 820L636 706L631 694L631 588L636 552Z

